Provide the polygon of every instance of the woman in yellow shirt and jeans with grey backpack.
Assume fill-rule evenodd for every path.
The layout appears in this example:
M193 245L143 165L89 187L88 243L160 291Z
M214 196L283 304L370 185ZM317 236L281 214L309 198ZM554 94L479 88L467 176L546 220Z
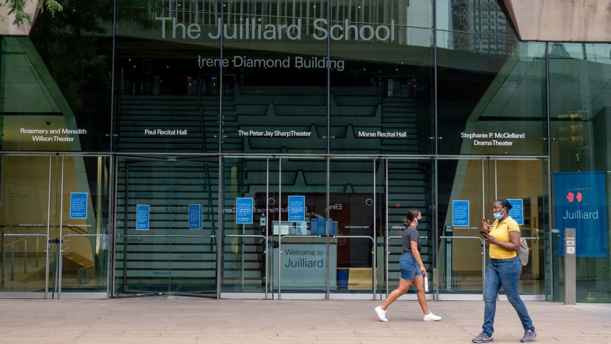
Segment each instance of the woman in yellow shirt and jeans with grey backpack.
M496 200L492 203L492 215L496 219L492 223L492 228L490 220L481 219L481 225L484 232L487 233L483 235L483 238L486 245L490 247L490 259L488 260L484 288L484 324L481 326L483 331L473 338L472 342L474 343L494 342L494 338L492 338L494 313L496 312L496 299L501 286L522 321L524 337L520 342L530 343L536 338L535 327L519 293L518 283L522 272L522 264L516 252L520 249L520 227L508 215L509 209L511 209L511 204L507 200Z

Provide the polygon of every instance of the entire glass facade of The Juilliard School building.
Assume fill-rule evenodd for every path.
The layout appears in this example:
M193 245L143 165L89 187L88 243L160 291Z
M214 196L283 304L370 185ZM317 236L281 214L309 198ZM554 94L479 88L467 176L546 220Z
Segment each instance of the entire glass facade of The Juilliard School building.
M383 299L415 207L430 297L481 299L508 198L525 299L562 301L579 206L577 301L611 301L609 187L560 189L609 184L611 45L494 0L64 8L2 37L0 297Z

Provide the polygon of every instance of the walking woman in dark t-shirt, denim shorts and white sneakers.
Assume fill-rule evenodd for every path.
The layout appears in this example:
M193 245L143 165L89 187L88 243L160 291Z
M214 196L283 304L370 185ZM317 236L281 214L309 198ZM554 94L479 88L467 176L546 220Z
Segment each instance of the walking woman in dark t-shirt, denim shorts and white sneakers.
M437 321L441 320L441 316L434 315L428 310L426 305L426 297L424 293L424 279L423 275L426 275L426 269L420 258L420 236L416 227L422 222L422 214L417 208L409 209L408 215L403 219L403 225L406 226L403 234L403 253L399 260L401 266L401 278L399 279L399 286L393 290L392 293L386 298L386 301L381 306L376 307L375 311L378 315L379 320L388 321L386 319L386 308L393 301L398 299L401 295L408 292L409 286L414 284L416 293L418 295L418 302L422 308L424 321Z

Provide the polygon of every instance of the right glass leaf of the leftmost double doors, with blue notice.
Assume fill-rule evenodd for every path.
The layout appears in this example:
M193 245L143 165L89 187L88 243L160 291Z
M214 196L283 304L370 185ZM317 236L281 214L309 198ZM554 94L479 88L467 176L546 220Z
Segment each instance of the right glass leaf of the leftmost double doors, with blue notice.
M109 157L62 158L62 293L102 292L108 285Z

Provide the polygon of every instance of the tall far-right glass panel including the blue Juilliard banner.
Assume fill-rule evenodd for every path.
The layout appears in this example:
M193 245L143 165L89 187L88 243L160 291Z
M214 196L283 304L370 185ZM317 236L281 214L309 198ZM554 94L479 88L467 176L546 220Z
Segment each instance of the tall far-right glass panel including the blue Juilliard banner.
M577 302L611 301L610 44L549 43L554 286L563 297L562 233L577 228ZM594 173L598 172L598 173ZM587 213L591 216L573 215Z

